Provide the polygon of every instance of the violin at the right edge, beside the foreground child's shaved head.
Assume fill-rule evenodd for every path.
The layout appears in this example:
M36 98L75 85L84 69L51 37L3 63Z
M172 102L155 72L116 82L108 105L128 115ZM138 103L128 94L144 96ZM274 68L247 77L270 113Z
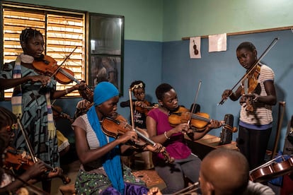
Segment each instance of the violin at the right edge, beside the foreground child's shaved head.
M275 159L274 159L275 160ZM272 162L267 166L260 166L249 173L249 179L253 182L265 182L275 177L287 175L293 172L293 158L282 162Z

